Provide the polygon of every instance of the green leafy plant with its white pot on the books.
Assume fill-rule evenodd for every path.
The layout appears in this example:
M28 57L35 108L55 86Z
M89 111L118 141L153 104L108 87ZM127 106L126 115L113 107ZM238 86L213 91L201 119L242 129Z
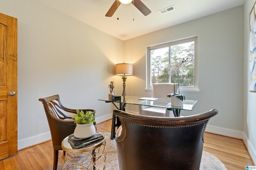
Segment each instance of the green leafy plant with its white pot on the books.
M72 118L76 123L74 137L86 139L91 137L96 132L93 123L95 122L95 111L76 110L76 114Z

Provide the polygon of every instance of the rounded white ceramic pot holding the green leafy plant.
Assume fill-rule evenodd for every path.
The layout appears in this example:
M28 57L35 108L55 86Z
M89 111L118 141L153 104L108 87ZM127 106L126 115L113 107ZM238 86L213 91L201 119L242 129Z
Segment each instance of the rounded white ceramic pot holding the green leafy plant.
M80 139L91 137L96 132L93 123L76 124L74 136Z

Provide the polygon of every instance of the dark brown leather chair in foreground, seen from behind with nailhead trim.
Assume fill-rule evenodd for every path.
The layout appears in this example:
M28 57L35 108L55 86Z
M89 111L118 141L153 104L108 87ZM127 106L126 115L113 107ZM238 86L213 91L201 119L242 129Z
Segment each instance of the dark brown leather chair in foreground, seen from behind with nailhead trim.
M204 130L218 111L186 117L152 117L114 110L120 170L199 170Z

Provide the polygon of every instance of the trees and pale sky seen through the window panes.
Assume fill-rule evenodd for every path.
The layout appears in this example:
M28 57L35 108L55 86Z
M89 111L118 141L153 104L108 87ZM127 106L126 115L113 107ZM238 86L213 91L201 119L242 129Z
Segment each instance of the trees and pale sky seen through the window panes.
M194 86L194 42L190 42L189 45L188 43L184 44L150 51L152 83L168 83L169 80L170 82L178 83L177 73L174 75L168 74L168 65L185 58L187 61L182 63L178 72L179 84L180 86ZM165 53L158 55L159 50L165 51ZM169 62L169 51L171 62Z

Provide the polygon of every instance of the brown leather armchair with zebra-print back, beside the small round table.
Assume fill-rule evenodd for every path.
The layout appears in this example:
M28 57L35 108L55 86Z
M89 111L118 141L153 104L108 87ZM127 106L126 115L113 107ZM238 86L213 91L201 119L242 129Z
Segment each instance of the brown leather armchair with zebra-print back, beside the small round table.
M54 149L54 162L53 169L56 170L58 166L58 152L62 150L62 140L68 135L74 133L76 124L71 119L76 114L76 109L68 109L64 107L61 102L59 95L54 95L46 98L40 98L44 106L44 111L50 127L52 136L52 146ZM95 111L94 109L79 109L86 111ZM94 122L96 127L96 123Z

